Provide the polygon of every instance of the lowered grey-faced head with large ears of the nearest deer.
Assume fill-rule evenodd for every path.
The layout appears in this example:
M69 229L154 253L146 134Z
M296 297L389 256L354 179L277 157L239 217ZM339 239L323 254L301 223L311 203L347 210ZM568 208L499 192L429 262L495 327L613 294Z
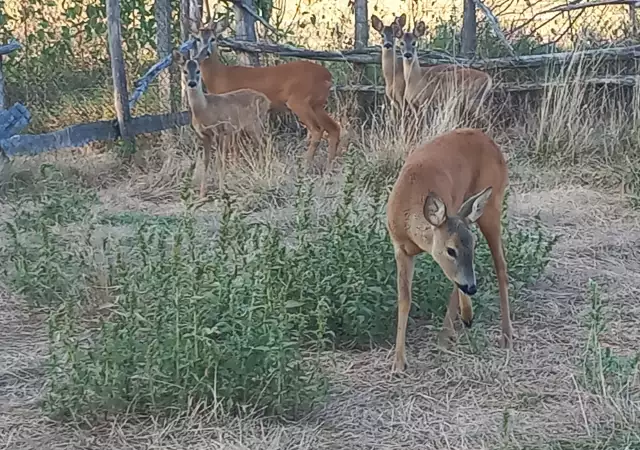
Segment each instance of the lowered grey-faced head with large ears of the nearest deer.
M472 195L453 216L447 214L444 202L433 192L424 203L424 216L433 231L431 255L446 277L467 295L477 291L473 264L476 237L471 224L482 216L491 191L489 186Z

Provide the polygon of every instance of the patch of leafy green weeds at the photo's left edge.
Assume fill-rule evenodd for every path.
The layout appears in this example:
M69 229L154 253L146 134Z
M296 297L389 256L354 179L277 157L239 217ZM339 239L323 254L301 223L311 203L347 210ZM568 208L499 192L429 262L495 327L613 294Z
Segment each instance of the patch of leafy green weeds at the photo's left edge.
M0 256L9 262L3 267L5 278L35 307L57 305L65 298L85 303L95 271L91 243L85 241L91 233L63 239L53 230L90 221L95 192L50 165L42 165L37 177L13 181L4 192L9 204L17 205L0 246Z

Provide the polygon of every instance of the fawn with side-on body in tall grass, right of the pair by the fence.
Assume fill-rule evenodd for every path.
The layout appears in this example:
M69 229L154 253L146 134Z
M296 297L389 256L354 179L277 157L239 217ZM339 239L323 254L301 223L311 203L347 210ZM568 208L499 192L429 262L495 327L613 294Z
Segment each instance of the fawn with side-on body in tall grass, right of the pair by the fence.
M433 100L441 101L462 95L466 106L477 114L491 90L491 76L480 70L451 64L420 67L417 43L425 31L423 21L416 24L413 32L402 32L396 28L403 56L405 101L417 113Z

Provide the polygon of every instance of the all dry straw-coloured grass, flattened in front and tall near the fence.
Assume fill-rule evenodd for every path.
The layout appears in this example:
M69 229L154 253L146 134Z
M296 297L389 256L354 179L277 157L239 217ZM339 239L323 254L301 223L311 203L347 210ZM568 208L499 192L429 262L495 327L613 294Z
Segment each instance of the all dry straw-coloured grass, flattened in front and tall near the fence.
M513 304L513 352L497 346L496 317L461 330L457 346L448 352L436 349L432 324L411 324L407 376L390 375L389 348L329 352L323 358L331 378L329 399L297 422L238 419L215 408L194 407L178 418L121 415L88 428L52 422L39 412L47 354L42 318L0 289L0 448L640 448L637 369L618 392L589 389L580 382L590 279L605 292L609 331L604 345L628 354L640 342L640 213L610 189L615 182L601 187L579 182L585 174L597 180L594 174L610 173L620 164L622 150L615 136L622 136L620 142L630 139L624 133L637 123L638 109L632 108L630 116L628 109L618 108L617 115L603 118L597 109L579 106L577 95L582 94L547 92L530 121L490 131L509 156L510 214L516 221L539 215L560 236L546 278ZM463 124L447 108L427 123L411 136L387 117L376 117L366 127L350 124L345 135L371 182L382 182L393 178L417 142ZM611 134L601 136L594 127ZM109 210L167 214L179 210L180 180L196 158L190 132L163 139L139 156L135 169L119 167L111 154L78 158L58 153L18 164L33 167L53 160L92 182ZM304 147L298 138L273 137L264 149L247 149L247 162L224 174L225 189L259 220L284 225L292 174ZM546 156L539 155L543 147L550 152ZM553 158L555 168L531 162L535 155ZM636 158L631 159L634 164L638 156L637 150L625 154ZM315 175L319 212L331 207L342 182L339 170L322 173L325 157L319 152L322 162ZM579 164L571 167L571 161ZM214 203L201 214L216 211Z

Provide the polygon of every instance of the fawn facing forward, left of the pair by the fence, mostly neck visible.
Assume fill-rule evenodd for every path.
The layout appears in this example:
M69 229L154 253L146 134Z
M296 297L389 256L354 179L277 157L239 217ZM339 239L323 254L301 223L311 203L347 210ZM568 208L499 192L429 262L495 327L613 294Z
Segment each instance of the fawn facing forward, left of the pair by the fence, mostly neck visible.
M371 15L371 26L382 37L382 76L384 91L391 104L402 110L404 105L404 69L402 57L396 56L396 35L407 23L406 14L396 17L391 25L385 25L375 14Z

